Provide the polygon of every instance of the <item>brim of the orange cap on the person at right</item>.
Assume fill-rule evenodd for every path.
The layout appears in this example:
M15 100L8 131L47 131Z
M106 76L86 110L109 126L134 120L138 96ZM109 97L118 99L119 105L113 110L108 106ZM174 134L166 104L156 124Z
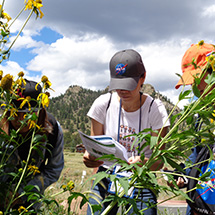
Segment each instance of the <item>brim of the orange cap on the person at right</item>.
M202 73L202 70L200 68L197 68L195 70L184 71L183 75L181 76L181 79L175 85L175 88L178 89L181 85L193 84L195 75L201 74L201 73Z

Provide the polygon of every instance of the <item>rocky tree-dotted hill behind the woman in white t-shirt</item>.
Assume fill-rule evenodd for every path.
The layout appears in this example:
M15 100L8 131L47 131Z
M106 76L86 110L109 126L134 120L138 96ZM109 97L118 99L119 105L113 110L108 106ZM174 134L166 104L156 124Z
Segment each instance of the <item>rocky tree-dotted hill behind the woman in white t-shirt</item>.
M153 98L159 98L164 103L168 113L174 107L174 104L167 97L156 92L152 85L145 84L142 91ZM77 130L90 134L90 120L87 117L87 112L93 101L106 92L108 92L108 88L92 91L74 85L70 86L65 94L51 98L48 111L60 122L67 147L74 149L81 142ZM179 111L178 108L175 113Z

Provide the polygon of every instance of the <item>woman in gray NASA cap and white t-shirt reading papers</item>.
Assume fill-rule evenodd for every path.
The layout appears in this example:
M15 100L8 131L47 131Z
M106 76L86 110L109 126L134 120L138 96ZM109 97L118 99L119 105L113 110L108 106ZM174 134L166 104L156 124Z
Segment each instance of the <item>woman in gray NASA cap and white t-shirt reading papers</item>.
M140 54L135 50L127 49L117 52L110 61L110 73L109 91L116 92L101 95L94 101L88 112L88 116L91 118L91 135L105 134L113 137L127 149L129 163L142 162L144 164L152 154L151 149L147 146L141 151L145 155L142 161L137 149L131 149L134 138L128 137L128 135L151 128L158 132L161 130L161 136L164 137L169 126L166 109L160 100L140 92L145 81L146 71ZM156 136L157 133L153 132L152 135ZM83 161L87 167L98 168L98 172L106 171L109 168L103 161L95 160L95 157L87 151L85 151ZM162 161L158 160L151 169L157 170L162 166ZM110 181L105 178L102 182L107 188ZM100 184L94 187L93 192L98 193L102 199L107 195L107 189ZM137 203L139 210L147 208L144 202L150 201L153 204L157 202L155 194L149 189L142 189L140 196L141 201ZM90 203L98 204L93 199L90 199ZM104 204L103 210L108 204ZM132 212L131 209L129 214ZM117 207L115 206L109 214L116 213ZM89 207L87 214L91 214ZM147 209L144 214L155 215L157 209L155 207Z

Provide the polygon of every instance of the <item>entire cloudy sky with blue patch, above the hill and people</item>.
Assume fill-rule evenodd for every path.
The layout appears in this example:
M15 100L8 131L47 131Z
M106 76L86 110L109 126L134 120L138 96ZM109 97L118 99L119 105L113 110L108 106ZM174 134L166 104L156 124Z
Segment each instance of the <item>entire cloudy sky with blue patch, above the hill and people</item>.
M7 0L14 19L24 0ZM43 0L42 19L35 15L1 64L4 73L24 71L26 78L49 77L58 96L71 85L93 90L109 84L109 60L133 48L146 67L146 83L176 102L174 86L181 59L192 43L214 43L213 0ZM123 11L123 13L121 12ZM16 34L30 11L11 27Z

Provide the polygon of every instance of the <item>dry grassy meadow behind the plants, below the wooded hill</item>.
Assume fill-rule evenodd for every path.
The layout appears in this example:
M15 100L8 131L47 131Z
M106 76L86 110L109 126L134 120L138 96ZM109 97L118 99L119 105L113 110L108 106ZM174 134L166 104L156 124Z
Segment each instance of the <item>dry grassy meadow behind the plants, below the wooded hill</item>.
M74 153L69 150L64 151L65 158L65 166L62 171L60 179L47 188L45 194L47 197L51 198L51 196L61 189L62 184L67 184L69 181L73 181L75 183L75 192L84 192L90 190L91 180L89 178L93 175L93 169L87 168L82 161L83 154L82 153ZM86 175L83 176L83 172L86 172ZM158 179L160 184L166 185L166 181L163 178ZM170 198L170 193L160 193L158 196L159 200L165 200ZM69 197L69 192L65 192L54 197L55 200L59 203L59 206L55 204L51 204L51 206L45 209L44 214L67 214L68 204L67 198ZM176 197L174 200L184 200L183 197ZM79 209L80 199L74 199L71 204L71 212L72 215L84 215L86 214L87 205L85 205L82 210ZM166 213L168 214L168 213Z

